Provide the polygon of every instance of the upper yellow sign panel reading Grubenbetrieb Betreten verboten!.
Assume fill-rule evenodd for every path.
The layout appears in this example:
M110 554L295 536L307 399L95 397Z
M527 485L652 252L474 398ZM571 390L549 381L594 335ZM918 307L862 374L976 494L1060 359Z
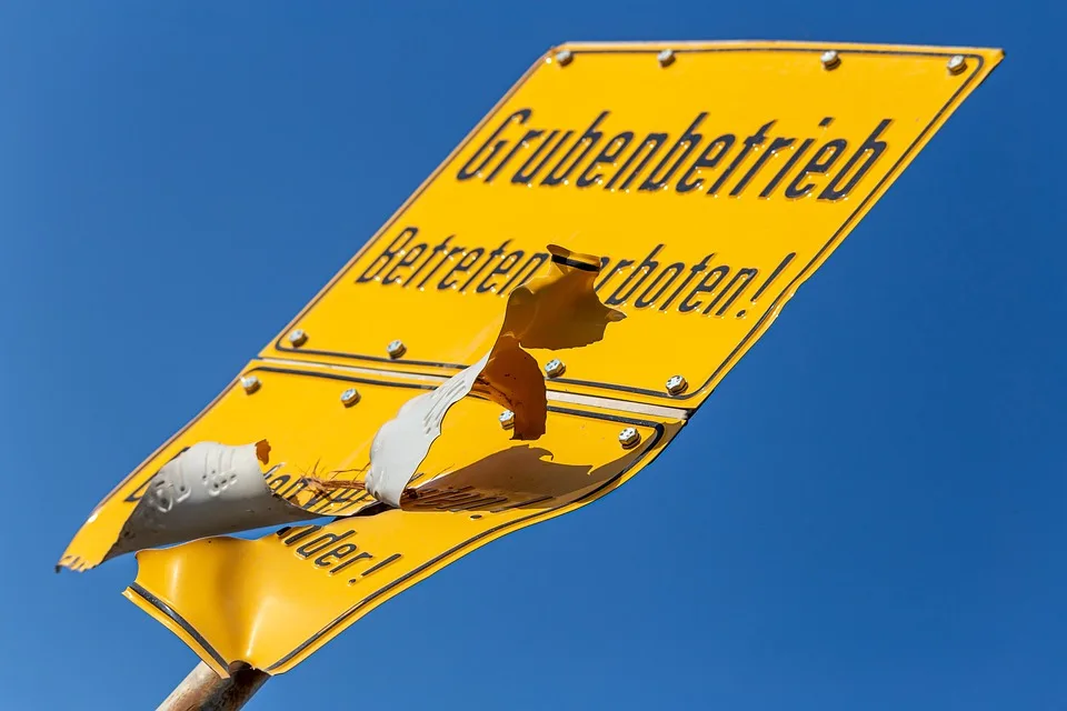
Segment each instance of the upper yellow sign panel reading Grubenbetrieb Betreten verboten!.
M696 407L1001 57L665 49L546 56L262 354L450 373L557 243L602 257L628 318L535 351L550 387Z

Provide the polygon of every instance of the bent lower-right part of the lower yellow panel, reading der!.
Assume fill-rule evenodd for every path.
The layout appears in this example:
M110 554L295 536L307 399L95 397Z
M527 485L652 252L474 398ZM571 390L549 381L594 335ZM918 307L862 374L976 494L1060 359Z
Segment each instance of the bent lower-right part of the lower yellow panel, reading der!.
M221 674L235 662L281 673L480 545L610 492L682 424L550 408L547 433L516 442L499 410L473 398L453 407L402 509L142 551L127 598Z

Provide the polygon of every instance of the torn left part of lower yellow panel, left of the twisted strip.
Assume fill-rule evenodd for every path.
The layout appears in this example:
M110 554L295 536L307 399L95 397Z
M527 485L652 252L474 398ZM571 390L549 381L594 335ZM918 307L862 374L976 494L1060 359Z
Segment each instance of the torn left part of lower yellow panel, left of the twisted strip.
M207 535L208 525L222 527L226 520L233 521L227 528L258 528L359 512L375 503L361 479L370 465L370 445L379 425L393 417L413 392L433 389L430 383L388 377L335 372L310 377L303 370L262 362L251 363L241 377L255 377L259 387L249 393L240 378L235 380L192 422L126 477L82 524L59 561L61 568L86 570L133 548ZM349 390L359 393L355 404L346 404ZM219 461L215 474L190 473L192 470L185 465L180 478L174 471L173 462L200 457L207 443L243 445L261 440L270 443L269 464L256 458L252 447L241 450L229 463ZM222 472L233 467L246 472L238 478L241 485L232 489L236 483L231 483L212 497L211 482L221 484ZM208 473L207 482L203 473ZM158 483L154 489L153 478ZM333 481L325 490L313 485L315 479ZM273 494L263 495L265 485ZM188 491L183 492L182 487ZM195 487L202 488L197 493L202 504L191 503ZM237 494L249 494L257 502L252 507L258 512L253 520L249 520L247 508L231 498ZM198 520L202 507L209 507L205 511L215 511L223 502L227 511L220 513L222 520L215 513L205 521ZM170 511L162 514L161 509L168 505Z

